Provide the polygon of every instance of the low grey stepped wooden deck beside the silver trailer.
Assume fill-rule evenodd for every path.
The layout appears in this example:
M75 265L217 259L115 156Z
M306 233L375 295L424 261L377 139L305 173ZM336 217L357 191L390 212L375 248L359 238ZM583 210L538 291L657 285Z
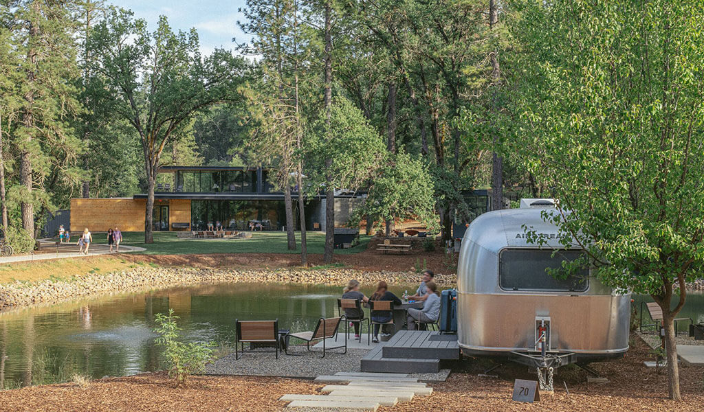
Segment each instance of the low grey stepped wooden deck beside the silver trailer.
M436 331L399 330L362 358L363 372L436 373L441 359L459 359L455 335Z

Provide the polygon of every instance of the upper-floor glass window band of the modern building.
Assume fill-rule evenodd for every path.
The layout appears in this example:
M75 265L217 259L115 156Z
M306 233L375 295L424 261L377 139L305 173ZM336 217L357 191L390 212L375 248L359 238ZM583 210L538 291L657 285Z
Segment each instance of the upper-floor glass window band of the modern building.
M256 170L176 172L176 191L185 193L257 193ZM263 188L269 192L268 187Z

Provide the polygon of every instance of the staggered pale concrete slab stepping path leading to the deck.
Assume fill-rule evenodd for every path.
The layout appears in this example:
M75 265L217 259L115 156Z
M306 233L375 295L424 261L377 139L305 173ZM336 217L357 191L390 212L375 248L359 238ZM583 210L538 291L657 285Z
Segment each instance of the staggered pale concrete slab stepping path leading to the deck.
M427 397L433 388L405 373L338 372L322 375L317 382L329 382L320 392L325 395L286 394L279 401L287 408L319 411L376 411L379 406L396 406L413 397ZM342 385L346 383L347 385Z

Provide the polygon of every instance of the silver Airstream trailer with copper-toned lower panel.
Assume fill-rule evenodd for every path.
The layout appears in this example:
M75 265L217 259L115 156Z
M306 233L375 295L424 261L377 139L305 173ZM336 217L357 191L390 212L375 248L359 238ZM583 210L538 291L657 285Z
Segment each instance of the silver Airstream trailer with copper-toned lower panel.
M513 357L536 368L622 356L628 350L630 295L606 287L589 269L565 280L548 274L546 268L559 268L581 252L565 250L558 228L541 212L557 210L551 200L532 200L519 209L482 214L467 228L458 262L460 348L470 356ZM535 234L544 245L528 242ZM553 257L555 249L560 251ZM546 363L551 354L554 362ZM543 361L536 361L541 355Z

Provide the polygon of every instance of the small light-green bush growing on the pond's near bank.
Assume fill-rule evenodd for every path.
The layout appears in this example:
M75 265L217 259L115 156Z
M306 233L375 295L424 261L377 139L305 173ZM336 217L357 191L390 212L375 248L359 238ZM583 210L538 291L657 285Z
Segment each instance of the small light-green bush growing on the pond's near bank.
M157 345L164 347L169 378L173 378L177 386L185 383L189 375L204 372L213 359L213 347L217 346L215 342L180 342L181 328L176 324L178 318L173 309L169 309L168 316L157 314L156 323L159 326L154 329L160 335L156 338Z

